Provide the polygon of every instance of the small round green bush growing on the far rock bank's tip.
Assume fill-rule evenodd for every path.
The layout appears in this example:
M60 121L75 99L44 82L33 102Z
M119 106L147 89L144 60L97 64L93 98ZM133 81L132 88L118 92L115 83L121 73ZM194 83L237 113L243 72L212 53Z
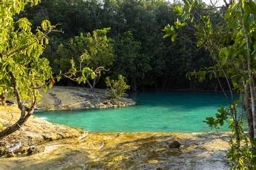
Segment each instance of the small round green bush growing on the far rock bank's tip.
M118 80L111 80L110 77L106 77L105 82L109 90L106 94L111 95L112 98L118 98L124 95L125 90L130 89L130 86L126 84L124 77L120 74Z

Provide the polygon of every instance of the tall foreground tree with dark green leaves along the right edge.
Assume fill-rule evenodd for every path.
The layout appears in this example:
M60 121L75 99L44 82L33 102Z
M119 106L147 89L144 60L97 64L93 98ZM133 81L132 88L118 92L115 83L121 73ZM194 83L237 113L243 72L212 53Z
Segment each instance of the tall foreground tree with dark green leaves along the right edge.
M233 132L233 137L228 140L231 150L227 157L235 162L235 168L255 168L255 138L256 138L256 113L255 113L255 56L256 56L256 4L252 1L238 1L225 6L207 7L198 1L184 1L183 8L175 6L173 10L181 16L174 26L167 25L164 29L166 36L175 39L181 27L190 26L198 39L197 46L205 47L212 56L214 65L204 68L199 72L187 74L195 76L200 82L206 76L216 77L220 83L223 77L230 91L229 97L220 83L229 103L228 108L218 110L216 117L207 117L206 123L218 130L230 117L228 124ZM210 15L203 11L225 11L225 18L217 25L213 24ZM220 11L221 11L220 10ZM192 18L192 14L195 16ZM233 91L243 96L242 101L235 101ZM242 111L239 113L238 106ZM247 116L249 139L244 133L242 122L244 114Z

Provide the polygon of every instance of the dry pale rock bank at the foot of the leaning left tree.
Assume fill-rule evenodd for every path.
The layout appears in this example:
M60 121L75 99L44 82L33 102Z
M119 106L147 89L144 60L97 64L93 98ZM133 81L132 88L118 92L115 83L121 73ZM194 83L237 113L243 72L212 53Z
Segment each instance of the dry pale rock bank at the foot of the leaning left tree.
M2 122L3 128L14 124L20 115L21 113L17 107L5 108L0 106L0 121ZM80 136L80 132L69 126L50 123L35 116L31 116L20 130L0 139L0 156L7 155L8 157L14 157L18 153L28 152L30 146L37 146L47 141L78 136ZM18 144L18 149L13 151L14 153L6 153L9 148L16 146L17 144L15 143L17 142L21 143Z

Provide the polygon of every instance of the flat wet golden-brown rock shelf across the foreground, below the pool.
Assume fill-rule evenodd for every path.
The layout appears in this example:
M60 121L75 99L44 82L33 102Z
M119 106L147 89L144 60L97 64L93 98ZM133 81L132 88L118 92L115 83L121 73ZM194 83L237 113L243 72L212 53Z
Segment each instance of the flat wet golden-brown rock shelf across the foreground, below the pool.
M227 137L226 133L221 134ZM180 148L171 143L179 140ZM0 169L229 169L216 133L98 133L38 146L41 153L0 158Z

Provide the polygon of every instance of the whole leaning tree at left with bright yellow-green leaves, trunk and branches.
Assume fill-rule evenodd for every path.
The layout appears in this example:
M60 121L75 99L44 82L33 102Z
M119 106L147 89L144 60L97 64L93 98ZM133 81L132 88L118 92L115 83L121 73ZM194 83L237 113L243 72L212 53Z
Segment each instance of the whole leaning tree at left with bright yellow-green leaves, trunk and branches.
M35 33L31 30L31 23L27 18L14 20L14 16L24 9L26 4L37 5L39 1L2 1L0 16L0 95L7 94L8 97L15 96L21 117L0 132L0 138L8 136L20 129L21 126L33 114L37 102L42 96L38 89L47 90L51 88L55 80L60 77L69 77L78 82L85 82L86 77L92 78L98 73L87 67L75 67L75 61L71 60L71 68L66 73L53 74L49 61L41 58L41 54L48 44L48 34L57 31L48 20L44 20L38 26ZM79 65L84 60L78 59ZM77 73L82 74L77 76ZM25 108L22 100L30 100L29 108Z

